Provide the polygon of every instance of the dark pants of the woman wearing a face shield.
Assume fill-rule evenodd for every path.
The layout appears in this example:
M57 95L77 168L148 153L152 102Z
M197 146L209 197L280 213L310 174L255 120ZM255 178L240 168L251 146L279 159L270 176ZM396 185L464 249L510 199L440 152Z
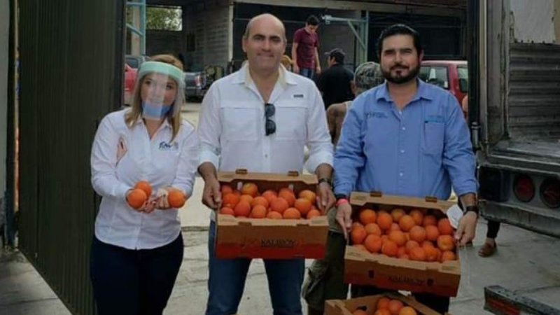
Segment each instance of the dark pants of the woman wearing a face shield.
M183 237L131 250L93 238L90 276L99 315L162 314L183 261Z

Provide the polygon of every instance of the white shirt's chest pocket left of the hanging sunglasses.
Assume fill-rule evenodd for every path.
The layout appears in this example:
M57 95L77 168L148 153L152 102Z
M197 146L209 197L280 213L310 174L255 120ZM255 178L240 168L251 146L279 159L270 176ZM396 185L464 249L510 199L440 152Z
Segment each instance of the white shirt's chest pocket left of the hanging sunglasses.
M255 141L258 138L258 109L245 104L223 104L223 137L235 141ZM264 114L263 114L264 115ZM262 130L262 134L265 130Z

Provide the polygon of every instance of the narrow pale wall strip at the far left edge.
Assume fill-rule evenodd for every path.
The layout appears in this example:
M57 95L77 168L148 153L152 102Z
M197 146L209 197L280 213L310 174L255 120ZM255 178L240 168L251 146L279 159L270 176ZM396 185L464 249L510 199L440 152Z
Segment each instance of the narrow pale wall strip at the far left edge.
M8 34L9 31L10 31L9 1L0 0L0 200L3 199L4 191L6 191L6 134L7 134L6 114L8 110Z

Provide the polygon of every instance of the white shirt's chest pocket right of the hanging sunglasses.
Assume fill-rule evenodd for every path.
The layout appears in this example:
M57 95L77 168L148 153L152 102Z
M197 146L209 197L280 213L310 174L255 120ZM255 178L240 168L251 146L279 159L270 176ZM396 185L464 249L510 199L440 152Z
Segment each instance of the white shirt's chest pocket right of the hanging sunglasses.
M303 140L307 130L307 106L304 102L286 102L276 106L272 116L276 139Z

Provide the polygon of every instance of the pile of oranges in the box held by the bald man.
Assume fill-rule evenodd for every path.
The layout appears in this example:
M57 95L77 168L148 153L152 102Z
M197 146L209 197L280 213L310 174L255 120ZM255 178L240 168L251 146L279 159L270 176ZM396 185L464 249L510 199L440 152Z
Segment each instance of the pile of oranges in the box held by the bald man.
M311 190L296 193L290 188L259 192L255 183L244 183L241 190L229 185L221 186L222 207L220 214L237 218L310 219L321 216L316 195Z

